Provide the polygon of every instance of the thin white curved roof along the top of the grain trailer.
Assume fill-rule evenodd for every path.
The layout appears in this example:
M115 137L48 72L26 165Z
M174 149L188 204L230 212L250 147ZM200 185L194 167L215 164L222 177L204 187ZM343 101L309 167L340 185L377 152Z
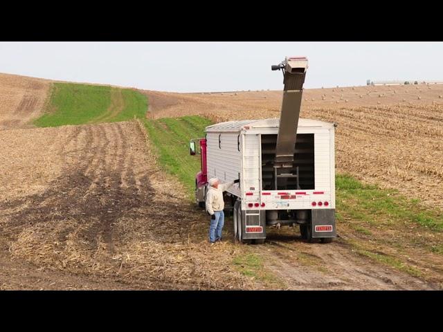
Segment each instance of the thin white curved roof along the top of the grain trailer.
M240 131L243 129L244 126L249 127L248 129L278 128L280 126L280 119L274 118L262 120L239 120L220 122L206 127L206 131ZM334 127L334 123L300 118L298 120L298 127L332 128Z

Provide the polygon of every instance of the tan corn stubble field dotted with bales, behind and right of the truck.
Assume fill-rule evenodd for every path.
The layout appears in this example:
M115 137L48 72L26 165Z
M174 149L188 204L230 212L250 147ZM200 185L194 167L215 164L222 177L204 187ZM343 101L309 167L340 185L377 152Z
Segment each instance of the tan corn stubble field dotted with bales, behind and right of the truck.
M428 206L443 208L443 100L439 99L443 85L417 88L307 89L300 117L338 124L338 172L396 188ZM201 114L214 122L278 118L282 102L280 91L144 93L155 100L151 117Z

